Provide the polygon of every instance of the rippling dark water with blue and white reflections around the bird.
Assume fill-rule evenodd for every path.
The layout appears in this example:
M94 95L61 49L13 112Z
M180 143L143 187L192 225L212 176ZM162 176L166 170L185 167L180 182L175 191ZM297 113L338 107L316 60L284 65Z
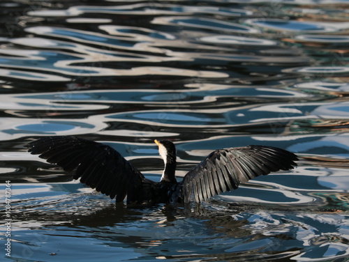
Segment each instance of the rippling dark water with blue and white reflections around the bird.
M349 1L1 1L1 261L346 261ZM302 157L192 210L132 209L24 147L78 135L148 178L216 148ZM3 209L3 208L1 208ZM6 214L9 217L6 217Z

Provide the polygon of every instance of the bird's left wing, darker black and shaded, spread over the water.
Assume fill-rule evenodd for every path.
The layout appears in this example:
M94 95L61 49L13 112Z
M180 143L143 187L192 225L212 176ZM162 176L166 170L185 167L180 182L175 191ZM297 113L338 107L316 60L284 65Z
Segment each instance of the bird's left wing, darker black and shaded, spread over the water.
M117 202L139 190L144 176L110 146L77 137L43 137L28 144L29 152L73 172L73 178Z

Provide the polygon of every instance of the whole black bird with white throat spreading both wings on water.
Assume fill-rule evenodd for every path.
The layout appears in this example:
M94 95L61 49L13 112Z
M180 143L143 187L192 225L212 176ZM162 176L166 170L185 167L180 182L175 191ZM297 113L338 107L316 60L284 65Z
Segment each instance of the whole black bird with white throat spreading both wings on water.
M176 148L171 141L155 143L165 169L160 182L145 178L110 146L78 137L44 137L28 144L29 152L73 173L73 178L111 199L127 203L200 203L215 194L270 172L292 169L297 156L272 146L218 149L177 182Z

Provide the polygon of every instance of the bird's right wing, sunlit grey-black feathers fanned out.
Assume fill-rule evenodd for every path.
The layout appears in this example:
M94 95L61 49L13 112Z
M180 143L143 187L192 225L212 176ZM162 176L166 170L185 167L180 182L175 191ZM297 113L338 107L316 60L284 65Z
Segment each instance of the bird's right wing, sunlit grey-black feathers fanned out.
M292 169L298 160L293 153L272 146L244 146L219 149L209 154L182 181L182 197L188 203L191 194L200 203L215 194L237 189L256 176Z

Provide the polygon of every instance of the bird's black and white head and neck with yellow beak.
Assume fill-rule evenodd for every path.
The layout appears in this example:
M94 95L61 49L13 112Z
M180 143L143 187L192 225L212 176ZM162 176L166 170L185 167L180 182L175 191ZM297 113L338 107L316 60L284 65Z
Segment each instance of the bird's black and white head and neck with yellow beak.
M168 140L154 140L154 142L158 146L158 153L165 163L165 169L163 170L161 181L177 183L174 176L176 171L176 147Z

